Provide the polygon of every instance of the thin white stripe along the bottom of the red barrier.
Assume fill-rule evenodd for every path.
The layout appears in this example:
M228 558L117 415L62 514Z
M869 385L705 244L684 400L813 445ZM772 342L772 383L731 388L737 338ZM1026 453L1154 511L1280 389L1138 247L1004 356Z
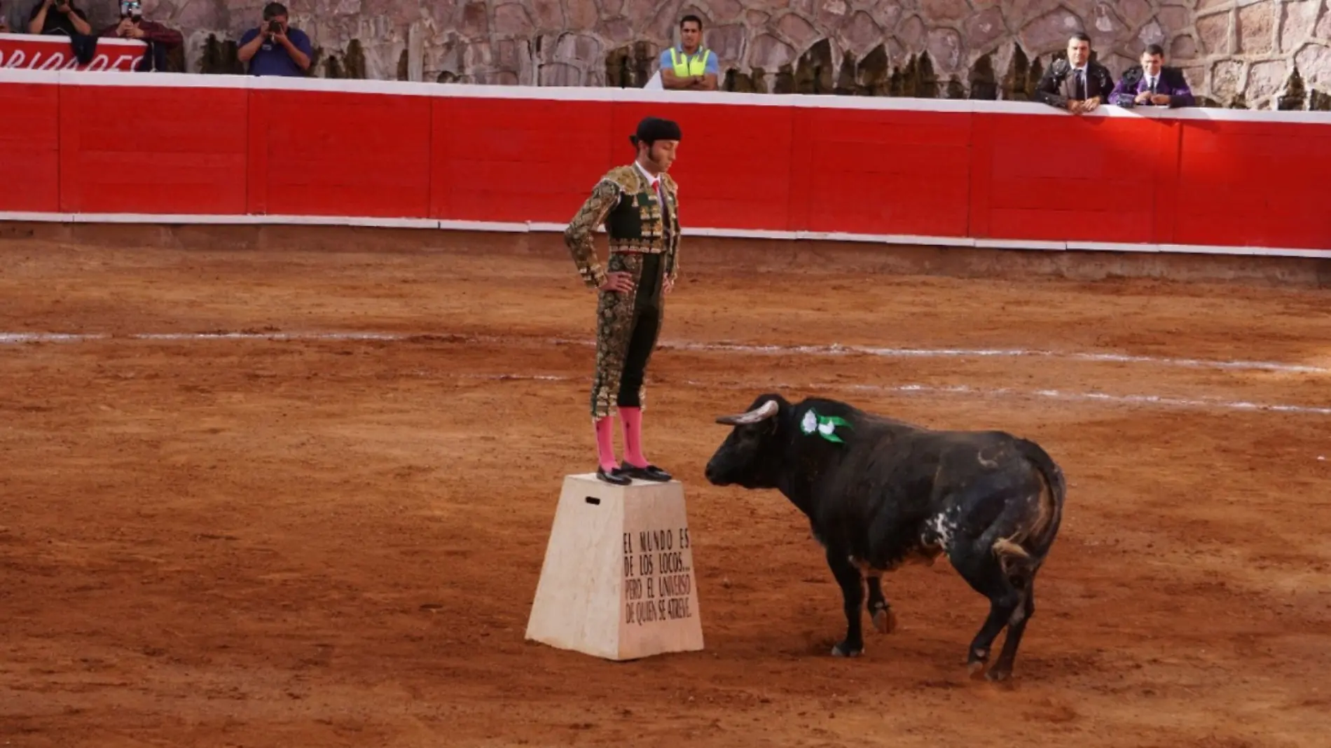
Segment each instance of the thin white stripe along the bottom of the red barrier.
M385 218L375 216L273 216L225 213L33 213L0 210L0 221L45 224L152 224L152 225L291 225L291 226L371 226L398 229L445 229L455 232L548 232L559 233L567 224L543 221L453 221L437 218ZM598 228L596 233L604 233ZM1243 254L1254 257L1304 257L1331 260L1331 249L1271 246L1155 245L1123 242L1078 242L1040 240L993 240L969 237L934 237L917 234L852 234L840 232L780 232L767 229L727 229L711 226L681 228L685 237L768 238L781 241L833 241L851 244L886 244L913 246L976 246L981 249L1145 252L1189 254Z

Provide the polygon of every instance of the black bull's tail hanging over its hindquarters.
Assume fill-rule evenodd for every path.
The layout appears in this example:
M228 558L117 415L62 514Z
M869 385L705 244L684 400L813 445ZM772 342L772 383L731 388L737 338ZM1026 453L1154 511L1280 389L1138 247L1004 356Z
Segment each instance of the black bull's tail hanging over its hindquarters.
M1034 442L1017 439L1022 457L1040 471L1044 486L1036 498L1034 512L1021 506L1016 516L1000 516L993 539L993 551L998 563L1009 576L1030 576L1040 568L1044 555L1053 544L1062 523L1063 499L1067 496L1067 483L1063 471L1053 458ZM1008 515L1009 512L1004 512ZM1010 522L1004 522L1010 519Z

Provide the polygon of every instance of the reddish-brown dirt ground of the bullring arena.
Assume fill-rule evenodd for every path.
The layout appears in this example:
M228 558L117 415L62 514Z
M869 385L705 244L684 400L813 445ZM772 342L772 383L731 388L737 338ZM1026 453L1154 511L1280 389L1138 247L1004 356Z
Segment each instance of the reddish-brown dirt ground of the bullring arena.
M594 467L572 262L355 248L0 241L0 333L88 335L0 342L0 744L1327 744L1331 291L685 256L646 437L707 648L608 663L523 642ZM833 343L917 350L745 347ZM988 604L945 562L828 656L807 523L703 479L712 418L776 389L1062 465L1012 684L966 677Z

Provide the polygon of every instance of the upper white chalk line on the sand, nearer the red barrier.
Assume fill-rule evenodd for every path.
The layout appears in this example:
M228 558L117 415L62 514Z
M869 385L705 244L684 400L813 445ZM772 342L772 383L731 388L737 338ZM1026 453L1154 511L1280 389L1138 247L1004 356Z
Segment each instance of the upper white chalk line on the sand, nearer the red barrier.
M125 335L110 335L101 333L65 334L65 333L0 333L3 343L32 343L32 342L84 342L108 339L134 339L134 341L407 341L413 338L458 338L467 342L511 342L516 338L500 335L453 335L446 333L134 333ZM571 338L550 338L544 342L552 345L582 345L592 346L592 341ZM926 349L926 347L876 347L876 346L844 346L844 345L745 345L745 343L700 343L663 341L663 349L675 350L701 350L701 351L731 351L755 354L804 354L804 355L876 355L882 358L1065 358L1071 361L1094 361L1101 363L1155 363L1161 366L1182 366L1189 369L1221 369L1221 370L1263 370L1284 371L1294 374L1331 374L1331 367L1312 366L1302 363L1283 363L1279 361L1207 361L1201 358L1171 358L1157 355L1129 355L1117 353L1061 353L1051 350L1026 349Z

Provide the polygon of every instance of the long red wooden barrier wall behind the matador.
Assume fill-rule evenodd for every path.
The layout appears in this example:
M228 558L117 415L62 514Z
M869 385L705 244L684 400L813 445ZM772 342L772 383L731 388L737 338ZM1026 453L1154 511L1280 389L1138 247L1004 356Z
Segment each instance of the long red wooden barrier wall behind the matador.
M631 158L638 120L663 114L685 133L672 173L689 228L1331 246L1331 117L1314 113L1073 117L1010 102L560 100L217 80L0 79L0 213L563 224Z

